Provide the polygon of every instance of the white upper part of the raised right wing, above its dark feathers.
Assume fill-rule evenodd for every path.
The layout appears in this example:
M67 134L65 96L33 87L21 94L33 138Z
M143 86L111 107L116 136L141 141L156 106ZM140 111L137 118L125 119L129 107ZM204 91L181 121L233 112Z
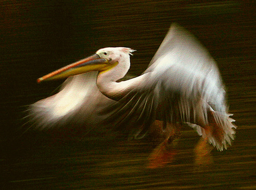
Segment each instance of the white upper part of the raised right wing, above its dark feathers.
M188 31L173 24L144 73L154 72L166 89L183 98L204 99L226 111L225 90L215 60Z

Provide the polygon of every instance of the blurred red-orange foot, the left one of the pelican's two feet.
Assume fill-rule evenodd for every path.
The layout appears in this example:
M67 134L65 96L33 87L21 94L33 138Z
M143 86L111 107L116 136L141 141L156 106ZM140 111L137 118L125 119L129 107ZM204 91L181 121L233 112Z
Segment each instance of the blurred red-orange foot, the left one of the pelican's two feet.
M177 154L177 151L170 148L168 141L164 140L154 151L151 153L150 158L148 158L149 163L147 168L156 169L162 168L165 164L173 161L174 156Z

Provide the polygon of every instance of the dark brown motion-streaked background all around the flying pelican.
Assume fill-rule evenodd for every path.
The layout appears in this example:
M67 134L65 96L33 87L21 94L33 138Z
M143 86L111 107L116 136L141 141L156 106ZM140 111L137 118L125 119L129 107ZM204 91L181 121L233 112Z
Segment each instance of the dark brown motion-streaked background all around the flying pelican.
M1 157L5 189L255 188L255 6L250 1L1 1ZM213 151L215 163L195 169L198 136L185 129L167 167L147 170L154 140L101 136L54 141L32 132L16 140L25 105L62 81L36 79L106 46L137 50L139 75L170 24L193 33L216 59L237 121L237 139ZM46 137L47 136L47 137ZM0 169L0 170L1 170Z

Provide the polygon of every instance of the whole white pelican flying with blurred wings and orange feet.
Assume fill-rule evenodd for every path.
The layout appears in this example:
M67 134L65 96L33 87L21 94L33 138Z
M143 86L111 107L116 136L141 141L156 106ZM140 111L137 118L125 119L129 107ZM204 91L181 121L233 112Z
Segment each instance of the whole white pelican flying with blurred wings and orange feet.
M131 130L134 138L142 138L161 121L166 137L152 155L156 159L159 150L179 136L181 124L202 136L201 152L207 142L220 151L231 145L236 126L219 69L193 35L172 24L146 70L120 81L130 69L133 52L129 47L106 47L39 78L38 83L69 77L54 96L31 105L37 127L75 120L84 126Z

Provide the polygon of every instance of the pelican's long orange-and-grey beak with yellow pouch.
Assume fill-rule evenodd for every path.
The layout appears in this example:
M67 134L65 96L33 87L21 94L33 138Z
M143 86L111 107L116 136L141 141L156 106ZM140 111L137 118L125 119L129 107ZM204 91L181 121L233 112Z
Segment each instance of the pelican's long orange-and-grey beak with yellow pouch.
M42 81L67 78L70 76L87 73L93 70L102 71L108 69L109 67L110 63L108 62L108 60L100 58L98 54L93 54L90 57L55 70L54 72L37 79L37 82L40 83Z

